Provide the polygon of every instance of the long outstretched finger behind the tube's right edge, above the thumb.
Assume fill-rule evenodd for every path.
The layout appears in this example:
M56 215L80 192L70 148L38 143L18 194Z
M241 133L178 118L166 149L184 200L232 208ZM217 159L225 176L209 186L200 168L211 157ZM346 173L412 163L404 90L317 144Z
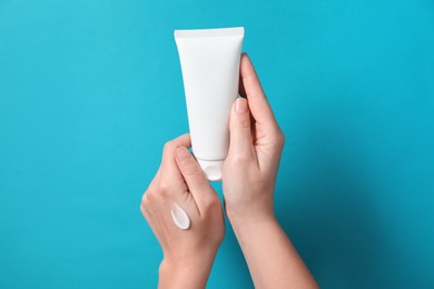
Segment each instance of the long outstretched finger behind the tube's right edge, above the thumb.
M276 126L276 119L267 101L258 76L246 53L240 60L240 94L248 99L251 116L259 124Z

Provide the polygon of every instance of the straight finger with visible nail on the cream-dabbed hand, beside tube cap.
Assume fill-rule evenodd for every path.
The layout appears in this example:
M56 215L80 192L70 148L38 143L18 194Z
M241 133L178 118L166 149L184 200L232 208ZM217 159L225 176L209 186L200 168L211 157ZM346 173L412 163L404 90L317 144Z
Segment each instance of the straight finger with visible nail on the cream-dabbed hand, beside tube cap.
M208 208L208 205L217 198L217 195L187 148L180 147L176 150L176 162L183 173L189 192L195 199L199 212L203 213L204 210Z

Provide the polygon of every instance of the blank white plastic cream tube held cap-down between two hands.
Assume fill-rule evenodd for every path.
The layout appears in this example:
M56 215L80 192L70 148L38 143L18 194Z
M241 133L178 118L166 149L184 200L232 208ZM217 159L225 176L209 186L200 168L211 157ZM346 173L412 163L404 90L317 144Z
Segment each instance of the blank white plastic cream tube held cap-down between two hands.
M238 97L244 28L175 30L191 148L208 180L221 180L229 114Z

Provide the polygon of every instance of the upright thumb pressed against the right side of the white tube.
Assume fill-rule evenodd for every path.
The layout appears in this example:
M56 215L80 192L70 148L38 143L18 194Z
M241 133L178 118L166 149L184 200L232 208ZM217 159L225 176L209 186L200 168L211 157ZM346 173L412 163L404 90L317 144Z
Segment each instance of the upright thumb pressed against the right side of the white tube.
M249 157L254 151L248 101L235 100L229 120L230 143L228 156ZM243 158L245 159L245 158Z

